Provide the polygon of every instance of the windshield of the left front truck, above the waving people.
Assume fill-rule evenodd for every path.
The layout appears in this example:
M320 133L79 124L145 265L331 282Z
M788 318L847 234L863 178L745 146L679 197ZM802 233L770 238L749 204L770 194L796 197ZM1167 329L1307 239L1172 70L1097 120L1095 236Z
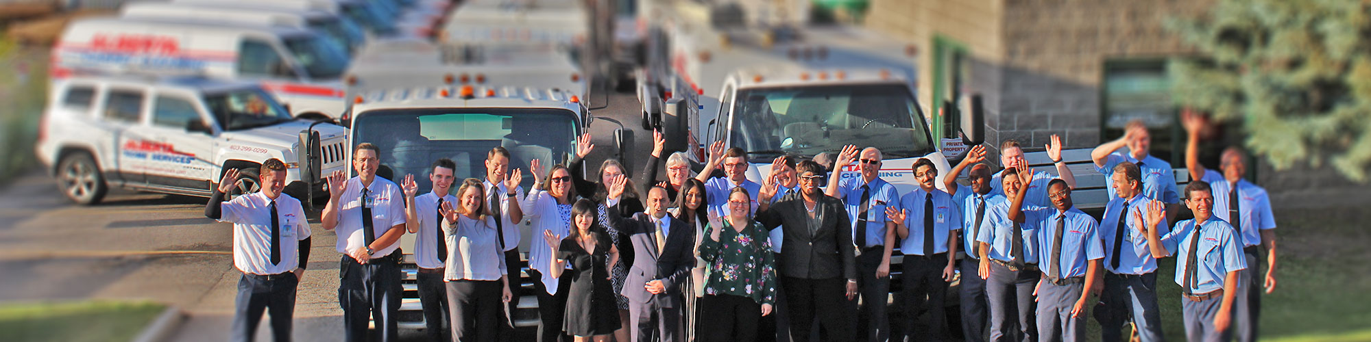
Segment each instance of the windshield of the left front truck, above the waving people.
M420 189L429 189L429 167L443 157L457 163L458 182L484 179L485 153L505 146L513 155L510 170L522 170L528 189L533 183L529 161L542 160L544 170L565 163L574 152L576 131L576 114L566 109L377 109L354 119L352 142L376 144L391 179L413 174Z

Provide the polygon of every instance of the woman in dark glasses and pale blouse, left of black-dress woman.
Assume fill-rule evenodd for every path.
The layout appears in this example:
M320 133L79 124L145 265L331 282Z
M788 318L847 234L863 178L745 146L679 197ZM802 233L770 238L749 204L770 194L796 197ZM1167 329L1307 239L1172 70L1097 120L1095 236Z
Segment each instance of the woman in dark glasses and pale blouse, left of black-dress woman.
M576 202L576 189L572 186L572 172L562 164L554 164L543 174L540 160L529 163L533 172L533 190L524 200L524 218L532 223L529 231L528 275L537 295L537 341L555 342L565 339L562 321L566 312L566 293L570 282L558 282L548 269L553 261L551 246L543 238L553 234L558 239L570 235L572 204ZM544 183L546 181L546 183Z

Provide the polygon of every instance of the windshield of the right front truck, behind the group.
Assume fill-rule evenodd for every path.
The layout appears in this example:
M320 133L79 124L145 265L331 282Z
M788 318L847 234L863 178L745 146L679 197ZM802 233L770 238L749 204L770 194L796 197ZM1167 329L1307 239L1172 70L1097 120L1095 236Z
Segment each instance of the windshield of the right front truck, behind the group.
M743 89L729 131L729 145L751 160L836 153L845 145L875 146L884 157L934 152L923 111L901 83Z

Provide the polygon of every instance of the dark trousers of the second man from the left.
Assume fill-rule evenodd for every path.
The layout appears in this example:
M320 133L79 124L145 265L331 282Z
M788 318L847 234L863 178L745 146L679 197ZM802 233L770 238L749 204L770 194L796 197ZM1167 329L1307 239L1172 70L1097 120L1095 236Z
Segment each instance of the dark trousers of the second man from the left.
M395 252L396 254L399 250ZM367 321L376 319L380 341L398 341L396 313L400 311L400 267L395 256L372 259L365 265L343 256L339 265L339 304L347 341L372 341Z

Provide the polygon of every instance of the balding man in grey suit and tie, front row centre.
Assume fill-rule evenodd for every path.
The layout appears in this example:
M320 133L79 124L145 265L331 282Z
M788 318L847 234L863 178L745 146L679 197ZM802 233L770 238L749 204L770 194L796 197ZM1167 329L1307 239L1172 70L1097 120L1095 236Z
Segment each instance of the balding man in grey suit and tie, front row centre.
M617 198L613 198L617 200ZM666 189L647 192L647 211L632 219L620 216L617 201L607 211L610 223L633 241L633 265L624 290L632 341L684 341L680 283L695 265L695 230L666 215Z

